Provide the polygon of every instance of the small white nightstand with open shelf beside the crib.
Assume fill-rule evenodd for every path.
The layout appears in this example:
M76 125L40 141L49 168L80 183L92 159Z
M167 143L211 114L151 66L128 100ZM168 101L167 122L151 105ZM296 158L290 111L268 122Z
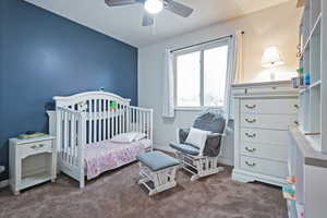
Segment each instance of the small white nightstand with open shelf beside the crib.
M28 140L9 140L10 186L16 195L21 190L57 177L55 137L45 135Z

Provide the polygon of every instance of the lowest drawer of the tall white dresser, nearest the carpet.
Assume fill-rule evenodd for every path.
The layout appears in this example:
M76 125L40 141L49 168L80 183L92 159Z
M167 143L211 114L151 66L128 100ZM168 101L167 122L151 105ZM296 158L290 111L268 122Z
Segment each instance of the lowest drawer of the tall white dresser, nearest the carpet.
M288 166L286 162L246 156L241 156L241 169L280 178L288 175Z

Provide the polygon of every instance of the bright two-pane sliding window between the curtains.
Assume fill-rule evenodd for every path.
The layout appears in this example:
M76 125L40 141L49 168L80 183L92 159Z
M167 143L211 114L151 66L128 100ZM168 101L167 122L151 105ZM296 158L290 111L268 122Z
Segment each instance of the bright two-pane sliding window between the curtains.
M223 106L228 53L228 40L174 52L177 107Z

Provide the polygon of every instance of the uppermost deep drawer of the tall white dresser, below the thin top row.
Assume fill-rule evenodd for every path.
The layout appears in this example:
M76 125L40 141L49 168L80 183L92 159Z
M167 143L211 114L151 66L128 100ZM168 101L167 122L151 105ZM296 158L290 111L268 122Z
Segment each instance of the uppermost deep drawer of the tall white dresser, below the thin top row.
M293 98L241 100L242 113L292 114L298 110L299 100Z

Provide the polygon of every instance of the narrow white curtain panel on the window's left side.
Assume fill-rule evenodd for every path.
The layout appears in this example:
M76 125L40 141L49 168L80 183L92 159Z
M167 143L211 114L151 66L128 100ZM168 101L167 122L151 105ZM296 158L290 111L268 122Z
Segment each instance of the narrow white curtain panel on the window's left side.
M173 75L173 53L166 49L164 66L164 88L162 88L162 117L174 117L174 75Z

